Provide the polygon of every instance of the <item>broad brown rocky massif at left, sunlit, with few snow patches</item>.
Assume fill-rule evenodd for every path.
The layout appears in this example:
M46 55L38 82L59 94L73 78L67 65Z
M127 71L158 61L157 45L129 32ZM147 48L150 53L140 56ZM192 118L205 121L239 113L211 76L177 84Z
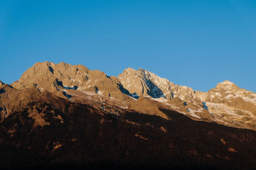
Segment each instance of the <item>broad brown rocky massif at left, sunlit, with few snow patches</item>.
M99 70L92 71L83 65L72 66L61 62L36 62L22 74L19 81L12 83L16 89L37 87L58 96L66 96L63 90L83 90L114 97L123 101L129 100L129 92L124 91L122 84L115 76L107 76ZM125 94L126 93L126 94ZM72 96L69 96L69 98Z

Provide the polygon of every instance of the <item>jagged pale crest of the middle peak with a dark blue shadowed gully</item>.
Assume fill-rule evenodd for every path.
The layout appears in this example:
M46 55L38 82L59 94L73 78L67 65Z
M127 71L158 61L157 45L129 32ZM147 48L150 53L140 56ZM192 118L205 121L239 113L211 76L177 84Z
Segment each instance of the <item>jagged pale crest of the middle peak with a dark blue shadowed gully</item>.
M173 99L173 97L180 97L180 99L194 99L197 96L190 87L175 85L166 78L160 78L154 73L146 69L132 68L125 69L123 73L119 74L119 80L124 88L129 90L134 96L164 97L166 99Z

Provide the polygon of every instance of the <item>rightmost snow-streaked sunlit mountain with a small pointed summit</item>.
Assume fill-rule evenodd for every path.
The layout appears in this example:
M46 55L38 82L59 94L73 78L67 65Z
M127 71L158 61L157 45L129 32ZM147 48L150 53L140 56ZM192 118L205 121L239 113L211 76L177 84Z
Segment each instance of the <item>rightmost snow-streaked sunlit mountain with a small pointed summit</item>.
M223 81L209 90L196 92L209 112L222 124L256 129L256 94L240 89L230 81Z

